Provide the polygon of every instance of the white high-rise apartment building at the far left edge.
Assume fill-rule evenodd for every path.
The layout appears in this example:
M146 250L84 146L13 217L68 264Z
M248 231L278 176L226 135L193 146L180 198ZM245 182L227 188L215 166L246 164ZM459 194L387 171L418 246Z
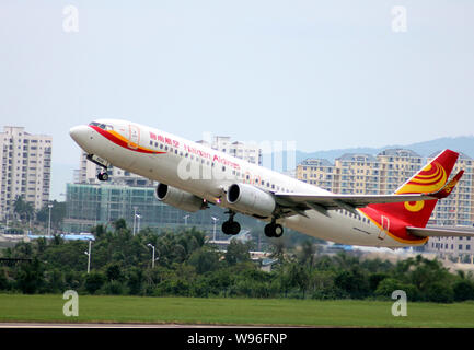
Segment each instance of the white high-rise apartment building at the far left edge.
M0 219L13 218L18 197L38 210L49 201L53 138L24 127L0 133Z

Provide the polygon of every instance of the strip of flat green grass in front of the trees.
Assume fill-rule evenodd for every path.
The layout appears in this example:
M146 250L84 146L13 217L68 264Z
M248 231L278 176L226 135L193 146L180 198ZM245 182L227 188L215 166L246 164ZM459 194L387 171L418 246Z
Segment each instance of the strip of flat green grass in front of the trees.
M392 302L276 299L79 296L79 316L66 317L62 295L0 294L0 322L178 323L335 327L474 327L474 303L407 304L392 316Z

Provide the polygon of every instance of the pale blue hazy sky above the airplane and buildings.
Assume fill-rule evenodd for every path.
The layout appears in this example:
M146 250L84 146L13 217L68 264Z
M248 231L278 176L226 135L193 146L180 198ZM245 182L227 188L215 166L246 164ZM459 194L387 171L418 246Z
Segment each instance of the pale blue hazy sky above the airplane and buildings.
M2 0L0 127L53 136L58 199L68 130L94 118L308 152L469 136L473 18L471 0Z

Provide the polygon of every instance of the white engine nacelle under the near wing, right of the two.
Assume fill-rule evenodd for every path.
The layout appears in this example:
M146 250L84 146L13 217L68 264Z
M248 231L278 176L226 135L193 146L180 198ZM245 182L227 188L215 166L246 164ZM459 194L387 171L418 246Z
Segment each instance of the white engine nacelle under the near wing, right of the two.
M275 198L248 184L233 184L227 192L227 201L235 210L259 218L270 217L276 207Z

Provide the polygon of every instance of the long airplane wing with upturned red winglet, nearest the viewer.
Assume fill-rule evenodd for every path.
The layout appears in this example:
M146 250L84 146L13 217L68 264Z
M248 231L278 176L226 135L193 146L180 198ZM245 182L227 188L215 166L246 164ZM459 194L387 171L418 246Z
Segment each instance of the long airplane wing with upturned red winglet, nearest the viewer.
M433 200L448 197L459 179L463 175L460 171L440 190L430 194L404 194L404 195L339 195L339 194L294 194L276 192L275 198L279 206L288 208L299 214L304 214L304 210L314 209L327 214L327 210L345 209L358 214L356 208L363 208L368 205L394 203L405 201Z

